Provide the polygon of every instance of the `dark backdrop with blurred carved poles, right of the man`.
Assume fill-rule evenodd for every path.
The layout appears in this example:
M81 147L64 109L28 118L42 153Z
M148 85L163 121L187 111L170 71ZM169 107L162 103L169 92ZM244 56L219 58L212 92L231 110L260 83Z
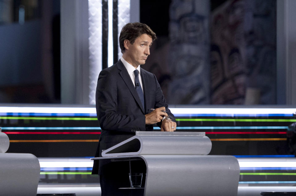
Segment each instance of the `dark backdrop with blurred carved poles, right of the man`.
M142 67L169 104L276 104L275 0L155 3L141 1L158 36Z

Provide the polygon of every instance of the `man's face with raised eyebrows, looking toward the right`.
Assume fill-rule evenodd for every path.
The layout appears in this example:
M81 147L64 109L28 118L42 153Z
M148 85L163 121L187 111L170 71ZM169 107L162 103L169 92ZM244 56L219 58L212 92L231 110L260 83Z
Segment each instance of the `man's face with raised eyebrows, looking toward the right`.
M131 44L128 40L126 41L127 43L125 44L126 50L124 55L127 59L125 60L134 67L144 65L148 55L150 55L150 47L152 44L151 36L142 34L135 39L133 44Z

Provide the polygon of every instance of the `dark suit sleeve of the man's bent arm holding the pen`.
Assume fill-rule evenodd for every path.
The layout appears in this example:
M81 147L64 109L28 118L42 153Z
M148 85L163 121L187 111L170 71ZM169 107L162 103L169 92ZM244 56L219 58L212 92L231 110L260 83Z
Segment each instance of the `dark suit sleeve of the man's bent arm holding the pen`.
M102 70L96 90L96 109L101 129L106 131L145 131L145 116L122 115L117 112L117 80L110 70Z

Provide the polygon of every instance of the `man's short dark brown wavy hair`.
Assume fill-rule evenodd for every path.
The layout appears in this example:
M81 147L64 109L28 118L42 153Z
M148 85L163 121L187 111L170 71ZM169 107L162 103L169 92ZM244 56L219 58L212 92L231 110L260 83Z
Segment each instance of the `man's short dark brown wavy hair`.
M144 23L130 22L124 25L119 35L119 46L121 52L123 53L125 51L124 40L127 39L131 42L131 44L133 44L135 39L137 39L137 37L141 36L142 34L150 35L152 41L157 39L156 34L150 29L150 27L148 27L148 25Z

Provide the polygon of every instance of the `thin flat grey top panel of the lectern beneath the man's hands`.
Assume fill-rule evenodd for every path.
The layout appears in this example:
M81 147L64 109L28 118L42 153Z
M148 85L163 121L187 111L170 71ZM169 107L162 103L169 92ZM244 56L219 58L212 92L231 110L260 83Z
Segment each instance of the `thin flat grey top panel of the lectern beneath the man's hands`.
M163 131L136 131L138 136L205 136L206 132L163 132Z

